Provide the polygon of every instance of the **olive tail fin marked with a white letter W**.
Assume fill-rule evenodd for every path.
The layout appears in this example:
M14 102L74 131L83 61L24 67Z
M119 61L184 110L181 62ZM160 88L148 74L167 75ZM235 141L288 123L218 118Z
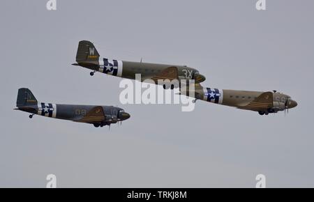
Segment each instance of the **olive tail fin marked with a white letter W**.
M98 63L99 54L93 43L88 40L81 40L77 47L76 61L77 63Z

